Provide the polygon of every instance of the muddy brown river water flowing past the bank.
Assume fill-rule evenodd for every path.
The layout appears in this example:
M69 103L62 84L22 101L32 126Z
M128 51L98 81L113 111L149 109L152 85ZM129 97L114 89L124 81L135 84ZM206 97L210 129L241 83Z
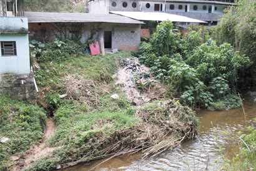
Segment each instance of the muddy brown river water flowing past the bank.
M250 89L249 93L244 92L242 98L245 99L244 108L247 121L245 121L242 107L229 111L200 110L197 112L197 117L200 119L197 139L183 142L173 150L166 150L157 157L147 159L141 159L140 153L126 154L112 159L77 165L65 169L65 171L205 170L206 168L215 170L222 160L219 157L225 156L227 159L232 159L232 156L239 152L240 145L233 139L235 133L247 132L246 127L249 125L256 127L256 122L253 120L256 117L256 102L254 102L256 87ZM220 152L220 148L225 150ZM219 160L216 163L217 159Z

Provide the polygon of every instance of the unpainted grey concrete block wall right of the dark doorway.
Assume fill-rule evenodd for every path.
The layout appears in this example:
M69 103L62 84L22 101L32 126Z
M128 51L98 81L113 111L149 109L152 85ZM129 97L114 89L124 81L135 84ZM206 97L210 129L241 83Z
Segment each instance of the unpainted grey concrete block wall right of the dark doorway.
M138 51L140 44L140 24L135 26L115 26L112 34L113 49Z

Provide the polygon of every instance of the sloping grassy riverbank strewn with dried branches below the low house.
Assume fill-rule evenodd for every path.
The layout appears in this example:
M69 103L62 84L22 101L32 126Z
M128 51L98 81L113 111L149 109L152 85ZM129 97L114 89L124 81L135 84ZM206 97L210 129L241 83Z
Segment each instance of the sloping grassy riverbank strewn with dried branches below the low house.
M132 95L127 98L124 82L121 84L115 74L122 68L119 61L130 57L128 52L104 57L77 54L61 62L52 58L51 62L35 62L34 74L39 87L37 105L53 119L56 130L50 137L38 134L36 141L19 152L3 150L2 154L7 157L1 159L1 163L5 162L2 169L51 170L139 150L147 156L172 149L194 137L198 124L194 112L179 100L168 100L170 97L162 90L165 85L157 81L140 82L139 85L144 86L135 87L137 93L143 94L139 104ZM141 80L139 76L136 79ZM111 97L113 94L115 98ZM6 122L11 122L9 114L3 117ZM16 112L17 117L29 114L21 109ZM20 129L24 123L26 120L21 120ZM13 125L16 124L14 120ZM46 119L44 124L47 125ZM2 136L8 135L1 133ZM12 144L12 140L9 143ZM36 147L42 143L40 148L49 150L41 157L29 158L27 154L34 156Z

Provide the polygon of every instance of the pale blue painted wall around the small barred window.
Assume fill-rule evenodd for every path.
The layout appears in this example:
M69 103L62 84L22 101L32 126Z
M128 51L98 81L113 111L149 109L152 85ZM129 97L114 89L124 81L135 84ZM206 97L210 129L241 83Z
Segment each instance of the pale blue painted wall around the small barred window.
M2 56L0 51L0 74L29 74L28 34L0 34L0 41L16 41L17 56Z

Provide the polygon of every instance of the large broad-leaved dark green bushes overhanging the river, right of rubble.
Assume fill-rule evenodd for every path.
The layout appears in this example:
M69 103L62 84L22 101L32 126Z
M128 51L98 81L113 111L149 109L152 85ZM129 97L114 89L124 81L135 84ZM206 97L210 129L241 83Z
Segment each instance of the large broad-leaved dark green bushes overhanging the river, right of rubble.
M240 56L230 44L202 43L199 31L183 37L172 22L161 22L150 41L142 42L140 61L150 66L157 79L171 85L185 104L208 107L220 97L235 94L239 72L251 66L249 57Z

